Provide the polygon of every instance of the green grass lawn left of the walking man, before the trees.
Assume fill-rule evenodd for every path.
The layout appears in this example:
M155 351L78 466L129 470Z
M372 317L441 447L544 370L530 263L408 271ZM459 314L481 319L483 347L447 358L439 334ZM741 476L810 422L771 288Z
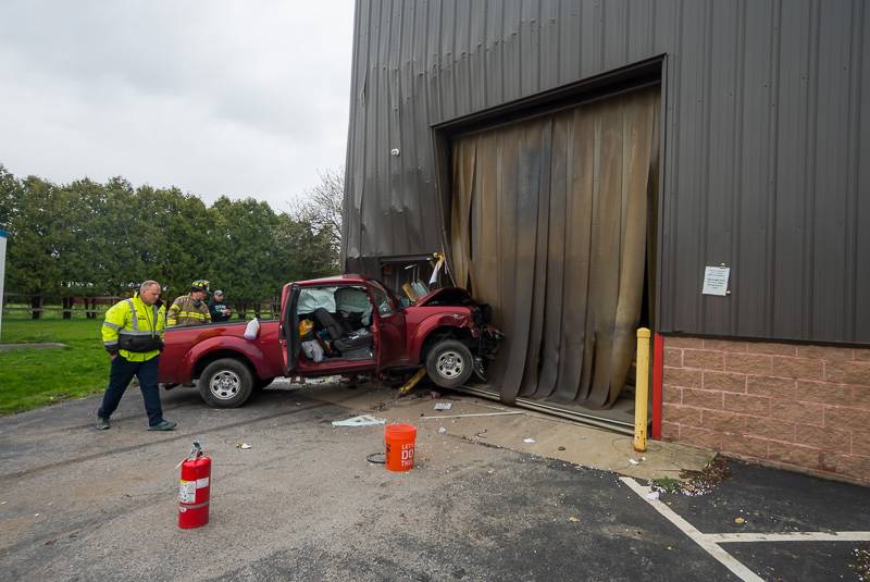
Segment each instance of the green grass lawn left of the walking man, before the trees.
M105 389L109 356L102 347L101 325L102 318L3 318L3 343L58 342L69 347L0 351L0 414Z

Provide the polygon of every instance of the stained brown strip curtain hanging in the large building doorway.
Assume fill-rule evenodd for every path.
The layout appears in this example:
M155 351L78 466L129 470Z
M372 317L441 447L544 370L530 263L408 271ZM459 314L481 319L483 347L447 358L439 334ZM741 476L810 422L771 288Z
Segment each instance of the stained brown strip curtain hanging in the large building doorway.
M451 268L507 334L489 370L504 401L609 408L622 392L658 113L650 87L453 141Z

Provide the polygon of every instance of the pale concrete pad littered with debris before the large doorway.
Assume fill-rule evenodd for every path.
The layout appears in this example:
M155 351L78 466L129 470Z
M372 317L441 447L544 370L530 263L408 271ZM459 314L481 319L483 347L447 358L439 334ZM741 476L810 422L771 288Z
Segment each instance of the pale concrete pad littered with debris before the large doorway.
M446 435L548 459L567 461L592 469L612 471L638 479L680 479L684 470L699 471L716 456L709 449L649 441L647 451L635 453L632 437L584 426L568 420L530 410L507 407L473 396L448 393L432 399L427 391L396 399L396 391L372 389L353 396L355 391L340 385L323 388L318 397L341 406L387 419L413 424L418 441ZM422 396L422 397L421 397ZM435 403L451 403L450 410L435 410ZM450 418L458 414L509 416ZM348 417L356 416L349 413ZM340 420L340 419L333 419ZM446 433L438 433L444 428ZM351 429L352 430L352 429ZM525 443L525 438L534 443ZM637 465L630 461L634 460Z

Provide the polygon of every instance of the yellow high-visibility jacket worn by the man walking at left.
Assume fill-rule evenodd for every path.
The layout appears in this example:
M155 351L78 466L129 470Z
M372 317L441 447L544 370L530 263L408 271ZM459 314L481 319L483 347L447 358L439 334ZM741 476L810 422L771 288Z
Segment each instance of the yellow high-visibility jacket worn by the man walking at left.
M102 344L109 354L121 354L126 360L150 360L163 348L165 327L165 306L145 305L137 293L105 312Z

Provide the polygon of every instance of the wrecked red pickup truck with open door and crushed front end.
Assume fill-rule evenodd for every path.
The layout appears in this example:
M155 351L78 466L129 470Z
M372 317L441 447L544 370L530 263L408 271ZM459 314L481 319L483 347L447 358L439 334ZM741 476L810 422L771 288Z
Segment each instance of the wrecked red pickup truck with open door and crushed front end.
M281 319L262 321L252 339L244 321L169 329L159 381L196 382L221 408L241 406L278 376L384 375L425 366L435 384L455 387L473 372L483 379L501 338L489 318L488 306L455 287L406 307L365 276L288 283Z

